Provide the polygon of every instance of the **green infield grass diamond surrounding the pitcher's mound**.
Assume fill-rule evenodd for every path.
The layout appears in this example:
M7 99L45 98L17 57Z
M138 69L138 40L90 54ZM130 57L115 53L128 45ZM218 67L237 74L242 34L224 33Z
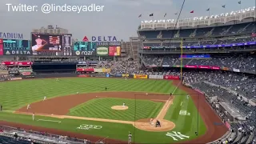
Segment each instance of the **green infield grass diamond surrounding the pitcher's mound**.
M122 106L128 110L112 110L111 106ZM95 98L70 110L69 115L87 118L107 118L134 121L142 118L156 118L163 106L162 102L125 98Z

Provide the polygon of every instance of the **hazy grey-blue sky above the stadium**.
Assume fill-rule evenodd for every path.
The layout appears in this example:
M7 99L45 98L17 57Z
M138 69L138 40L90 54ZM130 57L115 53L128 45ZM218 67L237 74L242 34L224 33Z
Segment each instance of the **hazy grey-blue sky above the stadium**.
M181 18L194 18L210 14L222 14L232 10L255 6L255 0L186 0ZM118 41L128 41L138 36L137 30L142 20L177 19L175 13L181 9L183 0L0 0L0 32L15 32L30 39L32 29L42 26L59 26L69 30L74 39L82 40L84 36L115 36ZM104 6L101 12L51 12L42 13L43 4L55 6ZM17 6L38 6L38 11L8 11L6 4ZM226 5L226 9L222 8ZM194 10L194 14L190 11ZM142 14L142 18L138 15ZM150 17L149 14L154 14ZM164 14L166 17L164 18Z

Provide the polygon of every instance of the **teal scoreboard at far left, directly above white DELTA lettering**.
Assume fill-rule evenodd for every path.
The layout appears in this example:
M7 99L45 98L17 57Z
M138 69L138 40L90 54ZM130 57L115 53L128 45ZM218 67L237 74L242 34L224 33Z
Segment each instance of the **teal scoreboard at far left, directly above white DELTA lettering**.
M31 50L30 41L20 39L3 39L4 50Z

